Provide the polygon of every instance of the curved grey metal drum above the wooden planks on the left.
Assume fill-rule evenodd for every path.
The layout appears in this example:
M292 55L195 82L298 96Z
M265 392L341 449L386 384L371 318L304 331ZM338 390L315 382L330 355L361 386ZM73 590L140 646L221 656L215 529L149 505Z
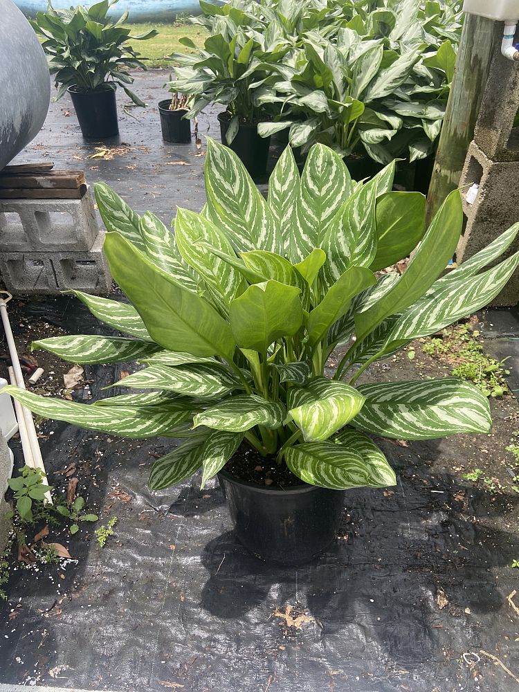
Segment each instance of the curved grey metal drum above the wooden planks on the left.
M0 170L42 129L51 101L47 60L33 28L0 0Z

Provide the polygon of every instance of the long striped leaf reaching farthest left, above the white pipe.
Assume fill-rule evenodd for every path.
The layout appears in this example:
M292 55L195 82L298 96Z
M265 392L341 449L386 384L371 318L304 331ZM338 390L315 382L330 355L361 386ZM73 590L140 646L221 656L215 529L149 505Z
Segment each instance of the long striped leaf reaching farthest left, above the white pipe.
M135 406L91 406L86 403L63 401L8 386L4 390L33 413L44 418L65 421L78 428L110 432L120 437L145 438L161 435L161 432L187 420L190 407L183 403L167 403L154 408Z

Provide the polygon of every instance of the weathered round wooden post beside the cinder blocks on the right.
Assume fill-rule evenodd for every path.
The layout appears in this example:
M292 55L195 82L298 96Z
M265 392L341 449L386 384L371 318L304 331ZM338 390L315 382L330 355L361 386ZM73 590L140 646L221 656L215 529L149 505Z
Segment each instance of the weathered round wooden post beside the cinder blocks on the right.
M468 145L489 76L490 63L502 35L498 21L465 15L453 84L441 127L435 167L427 195L430 221L462 176Z

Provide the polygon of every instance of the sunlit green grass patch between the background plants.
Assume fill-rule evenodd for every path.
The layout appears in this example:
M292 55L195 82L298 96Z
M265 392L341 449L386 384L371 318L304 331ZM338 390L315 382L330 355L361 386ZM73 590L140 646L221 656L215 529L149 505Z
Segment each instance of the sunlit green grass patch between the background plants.
M150 29L156 29L158 36L147 41L134 41L131 46L140 53L141 57L146 58L147 67L172 67L174 62L167 60L167 56L172 53L194 53L190 48L186 48L179 39L187 36L192 42L203 47L203 42L208 37L208 33L201 26L196 24L128 24L131 33L141 34Z

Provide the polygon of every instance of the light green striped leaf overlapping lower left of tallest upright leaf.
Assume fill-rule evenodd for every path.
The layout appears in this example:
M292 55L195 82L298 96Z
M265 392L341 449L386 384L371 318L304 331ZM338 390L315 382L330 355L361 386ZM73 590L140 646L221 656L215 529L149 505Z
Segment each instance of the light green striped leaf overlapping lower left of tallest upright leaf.
M242 275L230 264L219 259L212 248L226 255L235 255L233 246L212 221L188 209L177 208L175 237L179 251L192 268L223 298L228 309L242 284Z

